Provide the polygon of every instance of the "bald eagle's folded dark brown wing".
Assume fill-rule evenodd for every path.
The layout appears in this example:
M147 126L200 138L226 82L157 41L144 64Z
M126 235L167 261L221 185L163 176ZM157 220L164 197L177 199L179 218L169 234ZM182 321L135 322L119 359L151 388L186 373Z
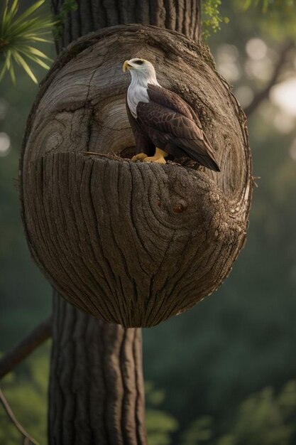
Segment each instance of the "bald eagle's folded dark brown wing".
M193 110L165 88L151 91L149 85L150 102L138 103L136 121L153 144L172 156L189 156L201 165L219 171L212 146L202 128L194 122Z

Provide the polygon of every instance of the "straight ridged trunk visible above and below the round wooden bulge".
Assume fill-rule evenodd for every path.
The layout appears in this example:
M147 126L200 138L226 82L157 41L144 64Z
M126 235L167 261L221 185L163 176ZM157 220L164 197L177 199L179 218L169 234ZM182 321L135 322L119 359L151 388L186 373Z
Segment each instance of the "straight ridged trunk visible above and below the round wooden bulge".
M52 0L58 14L63 2ZM143 23L199 39L199 0L193 10L174 1L77 1L57 41L106 26ZM124 329L87 316L57 293L53 305L48 440L55 445L145 445L141 329Z

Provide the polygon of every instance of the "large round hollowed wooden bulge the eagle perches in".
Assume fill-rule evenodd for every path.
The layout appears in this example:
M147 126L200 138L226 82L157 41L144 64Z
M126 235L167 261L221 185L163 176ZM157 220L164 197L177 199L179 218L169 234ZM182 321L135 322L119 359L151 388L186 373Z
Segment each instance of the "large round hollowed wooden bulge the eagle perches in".
M150 60L160 85L198 112L221 173L120 157L134 146L121 70L132 57ZM116 26L70 45L41 85L21 169L35 261L70 303L109 322L153 326L189 309L221 284L245 240L244 114L207 48L172 31Z

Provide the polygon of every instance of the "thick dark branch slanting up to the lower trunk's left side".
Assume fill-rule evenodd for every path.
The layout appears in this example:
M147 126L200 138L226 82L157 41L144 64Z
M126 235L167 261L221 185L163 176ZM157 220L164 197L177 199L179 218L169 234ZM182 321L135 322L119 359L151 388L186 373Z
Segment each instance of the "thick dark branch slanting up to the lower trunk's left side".
M42 345L51 336L52 317L46 318L31 333L23 338L13 350L0 360L0 379L16 368L33 350Z

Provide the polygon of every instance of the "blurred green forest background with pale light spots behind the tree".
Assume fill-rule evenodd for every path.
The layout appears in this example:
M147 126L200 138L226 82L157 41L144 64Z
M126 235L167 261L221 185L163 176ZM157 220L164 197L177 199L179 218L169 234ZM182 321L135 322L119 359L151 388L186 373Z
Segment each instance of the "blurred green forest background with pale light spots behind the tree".
M296 444L296 6L283 1L263 11L260 2L247 10L243 3L222 1L221 30L207 43L248 114L253 175L260 176L248 240L214 295L143 330L149 445ZM285 9L289 3L294 7ZM53 45L43 50L55 58ZM38 67L34 73L45 75ZM51 313L51 289L28 252L17 190L38 87L16 74L15 86L9 77L0 82L1 354ZM50 341L1 382L40 444L49 356ZM19 443L0 406L0 444Z

